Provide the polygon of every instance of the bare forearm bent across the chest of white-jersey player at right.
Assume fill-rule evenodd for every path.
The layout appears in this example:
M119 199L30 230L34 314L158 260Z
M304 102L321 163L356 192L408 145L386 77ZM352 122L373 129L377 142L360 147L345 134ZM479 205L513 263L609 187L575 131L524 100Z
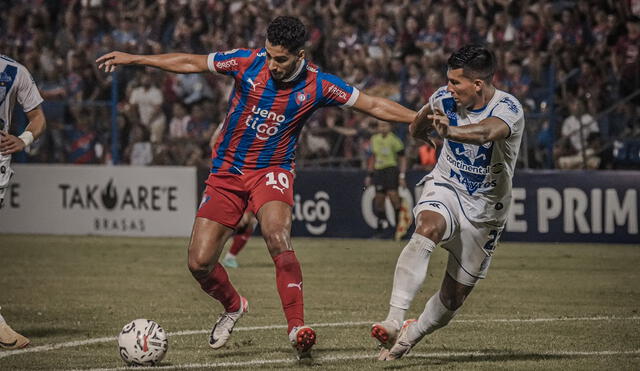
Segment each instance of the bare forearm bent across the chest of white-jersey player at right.
M477 124L464 126L449 126L449 119L440 111L427 117L433 120L433 125L441 137L460 143L482 145L505 139L511 134L507 123L497 117L487 117Z

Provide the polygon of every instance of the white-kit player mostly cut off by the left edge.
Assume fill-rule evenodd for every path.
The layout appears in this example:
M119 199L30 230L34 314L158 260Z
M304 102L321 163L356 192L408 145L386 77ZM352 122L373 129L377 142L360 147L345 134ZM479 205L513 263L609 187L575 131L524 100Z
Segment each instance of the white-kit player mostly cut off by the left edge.
M9 134L11 112L16 101L29 119L25 131L18 137ZM45 118L41 103L42 97L29 71L20 63L0 54L0 208L13 175L11 154L28 147L44 131ZM27 345L29 339L15 332L0 315L0 348L17 349Z

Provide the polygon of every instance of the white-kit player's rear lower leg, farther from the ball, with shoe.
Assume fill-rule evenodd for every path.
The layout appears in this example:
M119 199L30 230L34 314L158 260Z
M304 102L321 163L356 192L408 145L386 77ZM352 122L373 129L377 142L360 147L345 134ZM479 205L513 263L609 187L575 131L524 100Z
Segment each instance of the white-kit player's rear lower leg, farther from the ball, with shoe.
M404 322L398 340L389 350L385 360L401 358L426 335L446 326L455 316L473 286L463 285L455 281L449 273L445 273L440 291L427 301L424 311L418 320Z

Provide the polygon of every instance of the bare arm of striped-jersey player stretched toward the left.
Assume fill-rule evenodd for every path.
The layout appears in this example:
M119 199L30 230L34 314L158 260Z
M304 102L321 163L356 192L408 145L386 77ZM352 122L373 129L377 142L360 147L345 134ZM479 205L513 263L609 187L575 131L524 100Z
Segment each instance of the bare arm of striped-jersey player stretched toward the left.
M176 73L197 73L209 70L206 54L138 55L114 51L96 59L96 63L98 69L104 70L104 72L113 72L118 66L131 64L155 67Z

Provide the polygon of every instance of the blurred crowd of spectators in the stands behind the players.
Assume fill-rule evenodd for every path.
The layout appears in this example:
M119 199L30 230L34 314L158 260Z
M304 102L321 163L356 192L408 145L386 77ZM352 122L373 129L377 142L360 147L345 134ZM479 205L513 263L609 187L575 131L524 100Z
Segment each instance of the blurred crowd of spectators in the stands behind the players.
M186 104L188 109L201 106L202 119L196 120L175 109L179 115L175 121L181 126L174 127L184 129L186 117L191 117L191 130L201 149L201 155L194 158L206 157L207 138L212 123L220 122L220 112L225 111L233 89L231 82L215 74L175 76L153 72L149 79L152 87L145 90L136 82L147 79L142 75L148 72L125 68L117 74L98 73L93 66L97 56L114 49L136 54L178 49L209 53L239 45L258 46L265 38L266 21L287 11L307 23L310 45L305 50L323 70L350 77L361 88L419 108L425 97L446 83L440 68L445 62L445 49L468 41L488 43L500 61L496 83L515 86L510 89L520 90L516 94L528 103L527 110L545 115L527 121L533 136L529 142L535 143L535 136L544 133L545 144L531 146L542 152L531 158L547 158L552 164L554 159L547 156L552 151L542 148L547 148L549 141L554 147L553 134L560 130L556 130L553 117L563 116L562 110L573 97L584 100L589 114L598 117L603 147L611 147L610 141L621 136L640 136L634 120L640 115L640 96L629 107L620 103L640 85L640 8L629 5L635 3L72 0L50 7L46 1L13 1L3 13L0 50L23 60L32 70L47 101L47 117L55 117L62 125L74 122L66 113L73 111L70 104L81 102L91 107L89 124L95 124L90 129L98 143L110 140L107 111L111 109L112 82L117 82L121 151L130 146L130 129L146 125L157 157L153 163L184 164L194 151L182 153L185 143L176 141L193 139L176 139L171 128L164 135L166 123L175 119L174 103ZM128 107L129 98L137 102L140 92L149 98L150 91L156 89L153 85L161 86L161 95L153 93L155 99L150 104L140 101ZM134 88L140 90L133 94ZM602 113L605 107L612 109ZM199 109L195 108L196 115L200 115ZM314 148L305 153L323 161L327 156L342 156L342 165L360 165L368 135L360 127L362 120L354 121L351 113L341 111L334 116L333 127L319 120L305 129L305 137ZM70 133L76 128L61 130L66 134L59 136L62 148L68 149ZM560 144L555 147L561 148ZM44 145L34 159L64 161L56 146ZM111 146L105 148L111 151ZM180 149L180 156L173 155L177 153L174 149ZM168 156L161 155L164 153ZM106 158L111 155L107 153ZM124 152L113 155L128 158ZM417 154L412 158L419 165ZM545 166L543 162L531 163Z

